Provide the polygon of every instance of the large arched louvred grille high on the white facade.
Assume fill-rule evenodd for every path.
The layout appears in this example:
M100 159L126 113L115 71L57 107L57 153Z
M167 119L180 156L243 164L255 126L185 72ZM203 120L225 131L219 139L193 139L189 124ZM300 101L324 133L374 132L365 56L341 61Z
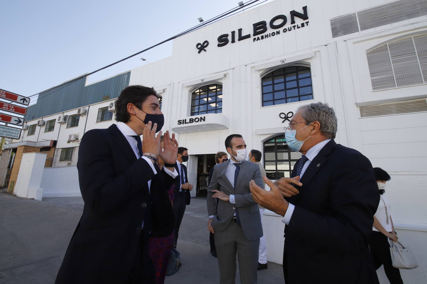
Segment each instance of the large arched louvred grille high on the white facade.
M427 82L427 34L389 42L366 57L374 91Z

